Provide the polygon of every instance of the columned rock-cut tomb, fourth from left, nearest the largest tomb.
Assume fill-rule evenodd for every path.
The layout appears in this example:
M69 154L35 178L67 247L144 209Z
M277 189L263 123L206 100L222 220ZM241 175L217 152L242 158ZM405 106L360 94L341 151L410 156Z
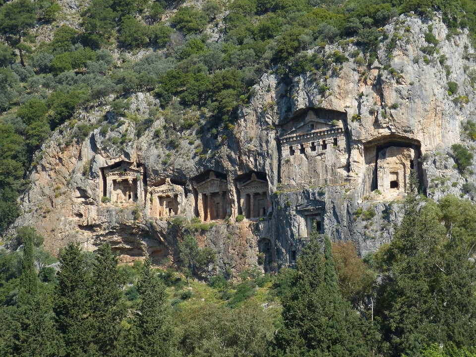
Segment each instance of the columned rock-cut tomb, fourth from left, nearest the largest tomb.
M268 214L272 206L268 199L268 181L257 179L256 174L251 174L251 179L238 183L240 192L241 211L245 218L259 218Z

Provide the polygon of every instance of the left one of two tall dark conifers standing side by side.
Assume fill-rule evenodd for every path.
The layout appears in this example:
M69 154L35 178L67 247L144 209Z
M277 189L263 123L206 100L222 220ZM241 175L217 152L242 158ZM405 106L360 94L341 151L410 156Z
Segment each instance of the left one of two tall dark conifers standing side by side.
M66 357L91 355L91 277L84 268L79 244L69 243L60 258L54 307Z

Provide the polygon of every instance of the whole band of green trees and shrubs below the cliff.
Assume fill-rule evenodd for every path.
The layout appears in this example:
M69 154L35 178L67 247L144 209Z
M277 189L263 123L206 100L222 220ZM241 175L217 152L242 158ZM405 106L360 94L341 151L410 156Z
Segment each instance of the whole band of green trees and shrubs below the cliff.
M55 273L41 236L19 229L20 248L0 252L1 355L474 356L476 207L416 193L405 206L392 242L364 259L313 232L297 269L208 285L187 272L204 259L192 237L185 275L73 243Z

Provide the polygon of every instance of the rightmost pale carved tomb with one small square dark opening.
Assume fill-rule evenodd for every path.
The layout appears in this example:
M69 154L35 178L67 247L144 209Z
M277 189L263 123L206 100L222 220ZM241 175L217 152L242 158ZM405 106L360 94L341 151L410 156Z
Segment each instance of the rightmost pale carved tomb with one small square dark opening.
M390 146L380 150L377 159L377 188L383 198L402 196L407 191L416 152L408 147Z

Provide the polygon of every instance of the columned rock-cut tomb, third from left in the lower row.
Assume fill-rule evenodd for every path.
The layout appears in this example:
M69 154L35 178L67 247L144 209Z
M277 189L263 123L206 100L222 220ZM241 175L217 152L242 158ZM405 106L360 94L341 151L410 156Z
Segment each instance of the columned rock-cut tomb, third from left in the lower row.
M228 211L228 182L211 171L208 179L192 181L198 192L198 215L203 222L224 219Z

